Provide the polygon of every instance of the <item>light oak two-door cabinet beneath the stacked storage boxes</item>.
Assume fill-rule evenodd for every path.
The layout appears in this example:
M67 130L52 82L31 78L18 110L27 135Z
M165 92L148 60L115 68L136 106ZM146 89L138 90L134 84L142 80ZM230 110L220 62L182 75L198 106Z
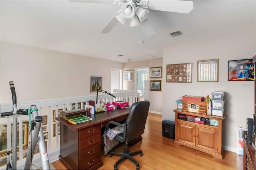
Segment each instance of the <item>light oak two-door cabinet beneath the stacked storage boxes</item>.
M175 144L180 144L211 154L222 159L222 120L223 117L184 112L175 109ZM218 120L218 126L194 123L178 119L178 114Z

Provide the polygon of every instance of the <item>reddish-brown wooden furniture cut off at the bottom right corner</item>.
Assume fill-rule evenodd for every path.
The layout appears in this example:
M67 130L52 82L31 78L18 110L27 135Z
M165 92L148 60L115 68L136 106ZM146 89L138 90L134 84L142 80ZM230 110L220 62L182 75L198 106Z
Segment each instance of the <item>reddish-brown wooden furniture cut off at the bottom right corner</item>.
M256 152L246 138L246 131L243 131L244 142L244 170L256 170Z

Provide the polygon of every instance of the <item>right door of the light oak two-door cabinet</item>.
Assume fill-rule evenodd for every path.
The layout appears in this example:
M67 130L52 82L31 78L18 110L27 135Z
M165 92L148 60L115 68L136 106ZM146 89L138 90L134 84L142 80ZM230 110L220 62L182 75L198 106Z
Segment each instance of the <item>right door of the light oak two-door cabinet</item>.
M218 152L218 130L196 127L196 146Z

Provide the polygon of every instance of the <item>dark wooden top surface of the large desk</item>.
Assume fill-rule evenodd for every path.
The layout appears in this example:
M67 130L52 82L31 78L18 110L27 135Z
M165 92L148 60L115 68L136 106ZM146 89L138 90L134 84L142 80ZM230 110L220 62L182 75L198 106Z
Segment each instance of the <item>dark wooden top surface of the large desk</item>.
M86 116L92 118L92 120L86 121L83 123L74 124L74 125L68 121L65 121L60 117L56 117L56 120L59 121L60 123L63 123L64 125L68 126L73 130L81 130L83 128L87 128L93 125L111 121L118 117L126 116L129 114L129 112L130 112L130 108L128 109L124 108L124 109L116 109L116 111L105 111L103 113L90 114Z

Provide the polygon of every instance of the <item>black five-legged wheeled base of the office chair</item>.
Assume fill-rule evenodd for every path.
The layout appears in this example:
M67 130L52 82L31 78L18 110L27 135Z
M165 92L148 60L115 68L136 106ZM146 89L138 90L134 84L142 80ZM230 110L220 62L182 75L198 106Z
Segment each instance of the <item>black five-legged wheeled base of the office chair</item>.
M110 152L109 153L109 155L108 155L109 157L112 157L112 155L121 156L121 158L115 163L114 170L117 170L118 164L120 164L125 159L129 159L130 161L132 161L136 165L136 170L140 169L139 163L134 158L132 158L132 156L137 155L137 154L140 154L140 156L143 156L142 150L127 152L127 148L128 148L128 144L125 143L124 152Z

